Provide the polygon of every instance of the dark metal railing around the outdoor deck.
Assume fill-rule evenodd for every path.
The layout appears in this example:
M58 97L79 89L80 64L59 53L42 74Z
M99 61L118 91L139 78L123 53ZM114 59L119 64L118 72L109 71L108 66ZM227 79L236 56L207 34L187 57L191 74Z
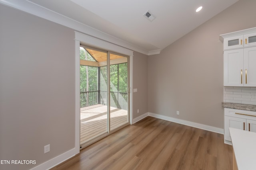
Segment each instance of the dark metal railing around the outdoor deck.
M127 93L110 92L110 106L127 110L127 101ZM92 106L95 104L107 105L106 91L100 91L100 95L98 91L80 92L80 107Z

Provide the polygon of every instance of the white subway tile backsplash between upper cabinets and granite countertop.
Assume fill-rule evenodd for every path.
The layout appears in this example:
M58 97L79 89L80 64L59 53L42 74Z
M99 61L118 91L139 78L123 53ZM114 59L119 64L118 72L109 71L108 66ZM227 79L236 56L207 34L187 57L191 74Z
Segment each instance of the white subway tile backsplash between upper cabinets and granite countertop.
M256 105L256 87L224 86L224 102Z

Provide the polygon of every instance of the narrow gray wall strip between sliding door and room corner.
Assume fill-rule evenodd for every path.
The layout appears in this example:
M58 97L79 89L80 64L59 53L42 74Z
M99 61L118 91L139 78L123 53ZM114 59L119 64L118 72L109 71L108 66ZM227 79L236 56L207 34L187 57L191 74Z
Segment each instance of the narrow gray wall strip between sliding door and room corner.
M133 58L133 118L148 112L148 56L134 51ZM137 110L140 110L137 113Z

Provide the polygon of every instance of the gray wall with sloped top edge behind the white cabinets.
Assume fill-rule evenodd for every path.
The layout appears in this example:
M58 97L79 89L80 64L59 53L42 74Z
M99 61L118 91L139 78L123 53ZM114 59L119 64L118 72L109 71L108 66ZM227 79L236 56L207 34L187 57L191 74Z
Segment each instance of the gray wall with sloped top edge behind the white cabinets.
M149 56L148 111L223 128L223 43L219 35L256 27L255 6L255 0L240 0L159 55Z

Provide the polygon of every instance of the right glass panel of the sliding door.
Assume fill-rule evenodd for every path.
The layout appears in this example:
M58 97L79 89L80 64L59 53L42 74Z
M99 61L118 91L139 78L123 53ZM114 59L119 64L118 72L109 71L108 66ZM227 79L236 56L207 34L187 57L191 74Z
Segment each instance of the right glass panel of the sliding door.
M110 131L128 123L128 58L110 53Z

